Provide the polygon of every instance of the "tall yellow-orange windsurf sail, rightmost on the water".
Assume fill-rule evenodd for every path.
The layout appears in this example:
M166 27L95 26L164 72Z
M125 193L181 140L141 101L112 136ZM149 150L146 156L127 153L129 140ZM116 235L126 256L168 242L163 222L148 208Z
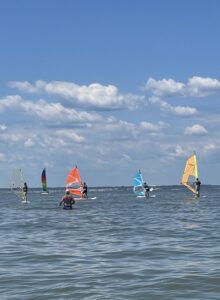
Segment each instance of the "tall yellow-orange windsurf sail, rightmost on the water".
M191 192L197 194L195 188L195 179L199 177L196 154L191 155L187 161L182 177L182 184L185 185Z

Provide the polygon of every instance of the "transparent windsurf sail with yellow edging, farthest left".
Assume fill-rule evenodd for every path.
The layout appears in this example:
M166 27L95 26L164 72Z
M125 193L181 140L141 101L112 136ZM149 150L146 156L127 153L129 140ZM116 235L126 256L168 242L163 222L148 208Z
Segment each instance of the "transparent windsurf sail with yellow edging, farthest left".
M10 178L11 191L22 200L26 202L25 193L23 192L24 177L21 169L14 169Z

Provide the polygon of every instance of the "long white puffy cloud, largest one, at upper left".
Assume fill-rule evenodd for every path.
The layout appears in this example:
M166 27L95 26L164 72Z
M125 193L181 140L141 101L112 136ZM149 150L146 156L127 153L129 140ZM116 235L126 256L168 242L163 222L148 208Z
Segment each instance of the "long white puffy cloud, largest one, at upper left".
M14 81L9 82L8 85L26 93L46 93L59 96L61 99L65 99L69 105L101 110L135 109L144 100L144 96L120 94L116 86L100 83L80 86L73 82L38 80L34 84L27 81Z

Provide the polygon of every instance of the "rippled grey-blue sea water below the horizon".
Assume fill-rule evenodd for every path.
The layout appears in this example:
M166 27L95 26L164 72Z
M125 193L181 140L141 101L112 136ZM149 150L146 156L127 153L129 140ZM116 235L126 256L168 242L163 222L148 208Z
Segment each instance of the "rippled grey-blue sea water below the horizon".
M0 190L1 300L220 299L220 186L90 188L69 211L62 192Z

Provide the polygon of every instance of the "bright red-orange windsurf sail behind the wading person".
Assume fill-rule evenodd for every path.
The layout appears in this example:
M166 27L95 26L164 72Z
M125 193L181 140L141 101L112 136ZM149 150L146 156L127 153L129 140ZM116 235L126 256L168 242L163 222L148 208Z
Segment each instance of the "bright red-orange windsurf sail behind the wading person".
M68 189L71 194L82 197L82 184L77 166L75 166L68 174L66 189Z

